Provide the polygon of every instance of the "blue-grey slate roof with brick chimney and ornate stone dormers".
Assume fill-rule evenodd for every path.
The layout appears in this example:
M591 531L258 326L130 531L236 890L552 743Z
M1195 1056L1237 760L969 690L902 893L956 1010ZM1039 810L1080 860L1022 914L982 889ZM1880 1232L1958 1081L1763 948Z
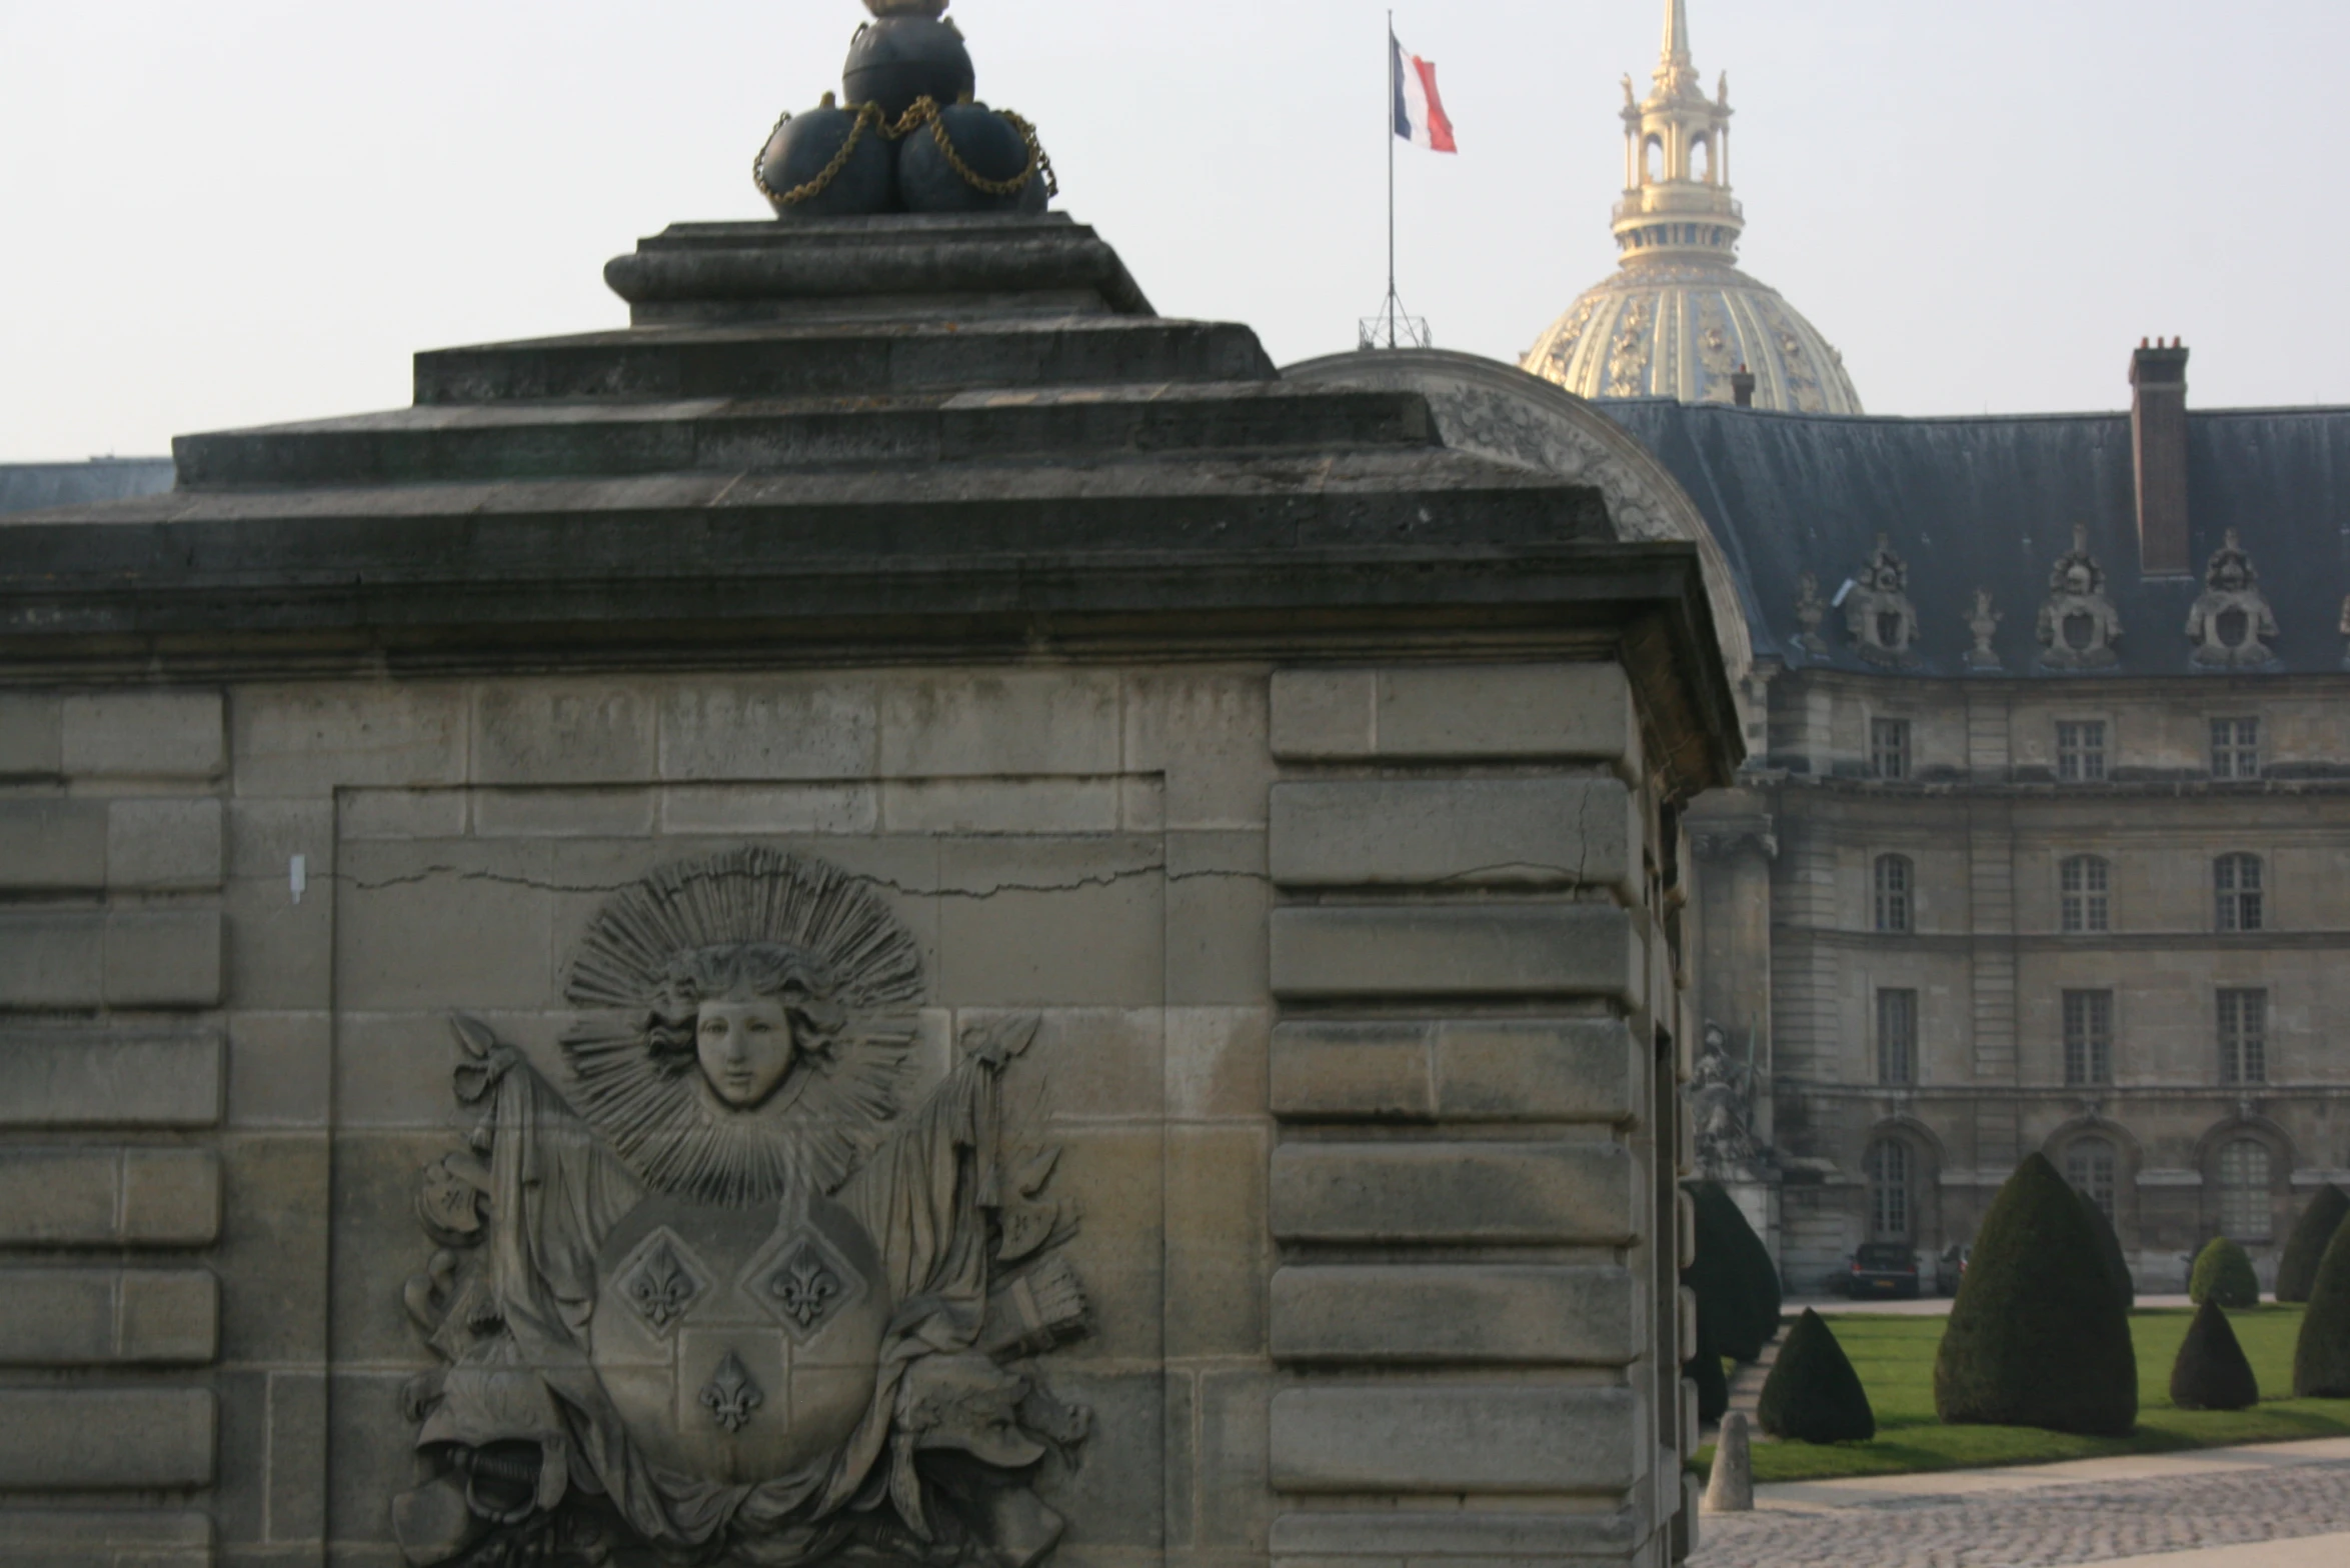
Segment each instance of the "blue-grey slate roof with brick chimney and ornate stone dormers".
M1821 599L1833 599L1885 533L1908 561L1920 620L1918 662L1901 674L1974 674L1962 660L1976 587L2005 617L1995 676L2075 674L2042 669L2037 617L2080 523L2122 615L2122 657L2103 676L2209 674L2188 660L2186 622L2228 528L2277 613L2280 667L2343 669L2350 408L2190 411L2195 575L2146 580L2127 413L1904 420L1664 399L1596 406L1657 453L1713 526L1758 657L1885 674L1859 657L1833 610L1821 622L1824 660L1795 646L1798 577L1814 573Z

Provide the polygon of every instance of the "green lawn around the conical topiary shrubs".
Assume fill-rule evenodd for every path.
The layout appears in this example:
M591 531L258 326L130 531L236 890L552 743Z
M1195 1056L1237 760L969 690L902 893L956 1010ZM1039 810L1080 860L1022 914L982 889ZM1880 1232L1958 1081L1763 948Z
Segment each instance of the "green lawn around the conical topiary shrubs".
M2171 1406L2171 1359L2195 1314L2181 1307L2134 1312L2138 1350L2138 1430L2131 1437L2068 1437L2037 1427L1943 1427L1934 1420L1934 1347L1941 1317L1835 1314L1828 1326L1861 1373L1878 1413L1868 1444L1755 1444L1755 1481L1821 1481L1979 1465L2047 1465L2106 1453L2162 1453L2277 1444L2296 1437L2350 1437L2350 1399L2284 1399L2294 1387L2294 1338L2301 1307L2230 1312L2235 1336L2261 1378L2263 1401L2249 1411L2178 1411ZM1699 1474L1713 1462L1701 1448Z

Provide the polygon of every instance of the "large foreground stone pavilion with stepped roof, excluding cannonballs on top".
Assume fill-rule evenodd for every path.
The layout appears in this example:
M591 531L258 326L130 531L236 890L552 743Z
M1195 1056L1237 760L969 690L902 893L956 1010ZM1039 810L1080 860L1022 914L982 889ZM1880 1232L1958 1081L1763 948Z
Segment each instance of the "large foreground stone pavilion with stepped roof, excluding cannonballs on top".
M1668 481L1067 218L609 277L0 523L0 1561L1673 1561Z

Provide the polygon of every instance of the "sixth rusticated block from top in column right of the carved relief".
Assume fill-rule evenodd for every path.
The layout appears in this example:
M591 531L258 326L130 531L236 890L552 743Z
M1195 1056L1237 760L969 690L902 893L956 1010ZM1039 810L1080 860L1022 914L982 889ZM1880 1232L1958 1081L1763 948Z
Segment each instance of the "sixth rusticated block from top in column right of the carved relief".
M1622 1268L1290 1265L1274 1275L1276 1361L1629 1366Z

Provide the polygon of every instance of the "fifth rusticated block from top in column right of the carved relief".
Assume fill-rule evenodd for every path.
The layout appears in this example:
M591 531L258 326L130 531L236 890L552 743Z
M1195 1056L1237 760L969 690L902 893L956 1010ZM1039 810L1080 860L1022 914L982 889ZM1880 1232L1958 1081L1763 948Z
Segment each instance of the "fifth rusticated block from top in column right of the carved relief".
M1633 1239L1617 1143L1283 1143L1274 1235L1295 1242Z

